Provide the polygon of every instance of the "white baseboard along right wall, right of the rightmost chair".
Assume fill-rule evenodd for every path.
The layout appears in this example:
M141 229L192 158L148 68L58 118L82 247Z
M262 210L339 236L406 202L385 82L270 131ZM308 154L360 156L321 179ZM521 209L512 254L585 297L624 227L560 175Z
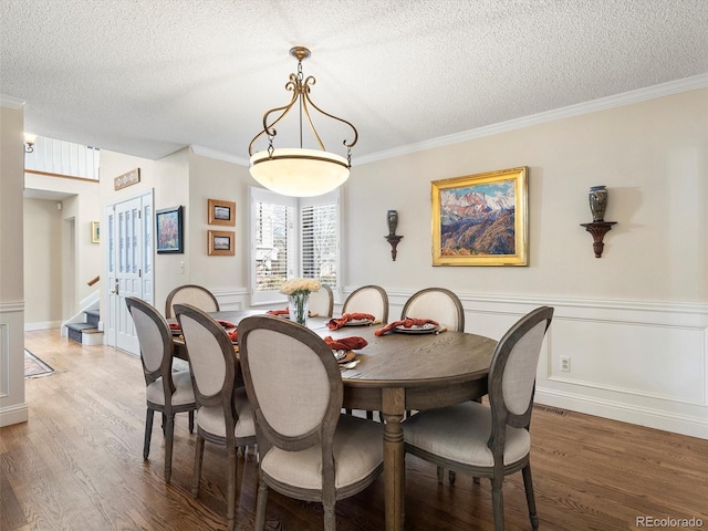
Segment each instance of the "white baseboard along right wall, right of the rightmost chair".
M537 387L534 402L622 423L708 439L708 419Z

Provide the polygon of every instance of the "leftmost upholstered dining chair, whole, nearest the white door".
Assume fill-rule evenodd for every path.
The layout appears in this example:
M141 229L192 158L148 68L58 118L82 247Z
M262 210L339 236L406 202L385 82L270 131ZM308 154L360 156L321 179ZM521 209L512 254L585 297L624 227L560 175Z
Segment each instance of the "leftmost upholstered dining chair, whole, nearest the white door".
M173 335L165 317L147 302L127 296L125 303L133 317L140 347L140 361L145 375L145 442L143 458L150 454L153 418L155 412L163 414L165 434L165 482L169 483L173 471L173 442L175 438L175 415L189 413L189 433L194 431L195 394L189 369L173 372Z

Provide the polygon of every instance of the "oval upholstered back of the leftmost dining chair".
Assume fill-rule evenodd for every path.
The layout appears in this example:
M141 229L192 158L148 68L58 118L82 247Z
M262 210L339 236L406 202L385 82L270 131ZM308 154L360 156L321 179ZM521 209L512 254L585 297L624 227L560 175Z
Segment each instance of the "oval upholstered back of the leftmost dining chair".
M125 303L133 317L137 341L140 347L140 361L145 384L149 385L160 376L165 382L165 404L169 404L169 397L175 393L171 378L173 363L173 335L165 317L152 304L126 296Z

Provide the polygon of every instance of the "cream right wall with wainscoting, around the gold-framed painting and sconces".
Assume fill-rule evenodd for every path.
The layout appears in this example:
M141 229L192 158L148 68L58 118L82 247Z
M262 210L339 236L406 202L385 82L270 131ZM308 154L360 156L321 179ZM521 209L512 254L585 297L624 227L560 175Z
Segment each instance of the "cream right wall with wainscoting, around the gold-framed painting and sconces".
M430 181L516 166L529 167L529 267L434 268ZM617 221L600 259L580 227L593 185ZM702 88L355 167L346 282L385 287L394 316L413 291L449 288L467 330L493 337L552 304L538 400L708 438L707 202Z

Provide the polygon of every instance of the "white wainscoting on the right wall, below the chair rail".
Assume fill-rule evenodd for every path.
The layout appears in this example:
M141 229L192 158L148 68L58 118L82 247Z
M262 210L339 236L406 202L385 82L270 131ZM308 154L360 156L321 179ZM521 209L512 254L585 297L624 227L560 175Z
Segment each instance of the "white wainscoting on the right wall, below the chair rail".
M391 320L415 291L388 291ZM493 339L534 308L555 309L538 403L708 439L708 304L458 296L466 331Z

